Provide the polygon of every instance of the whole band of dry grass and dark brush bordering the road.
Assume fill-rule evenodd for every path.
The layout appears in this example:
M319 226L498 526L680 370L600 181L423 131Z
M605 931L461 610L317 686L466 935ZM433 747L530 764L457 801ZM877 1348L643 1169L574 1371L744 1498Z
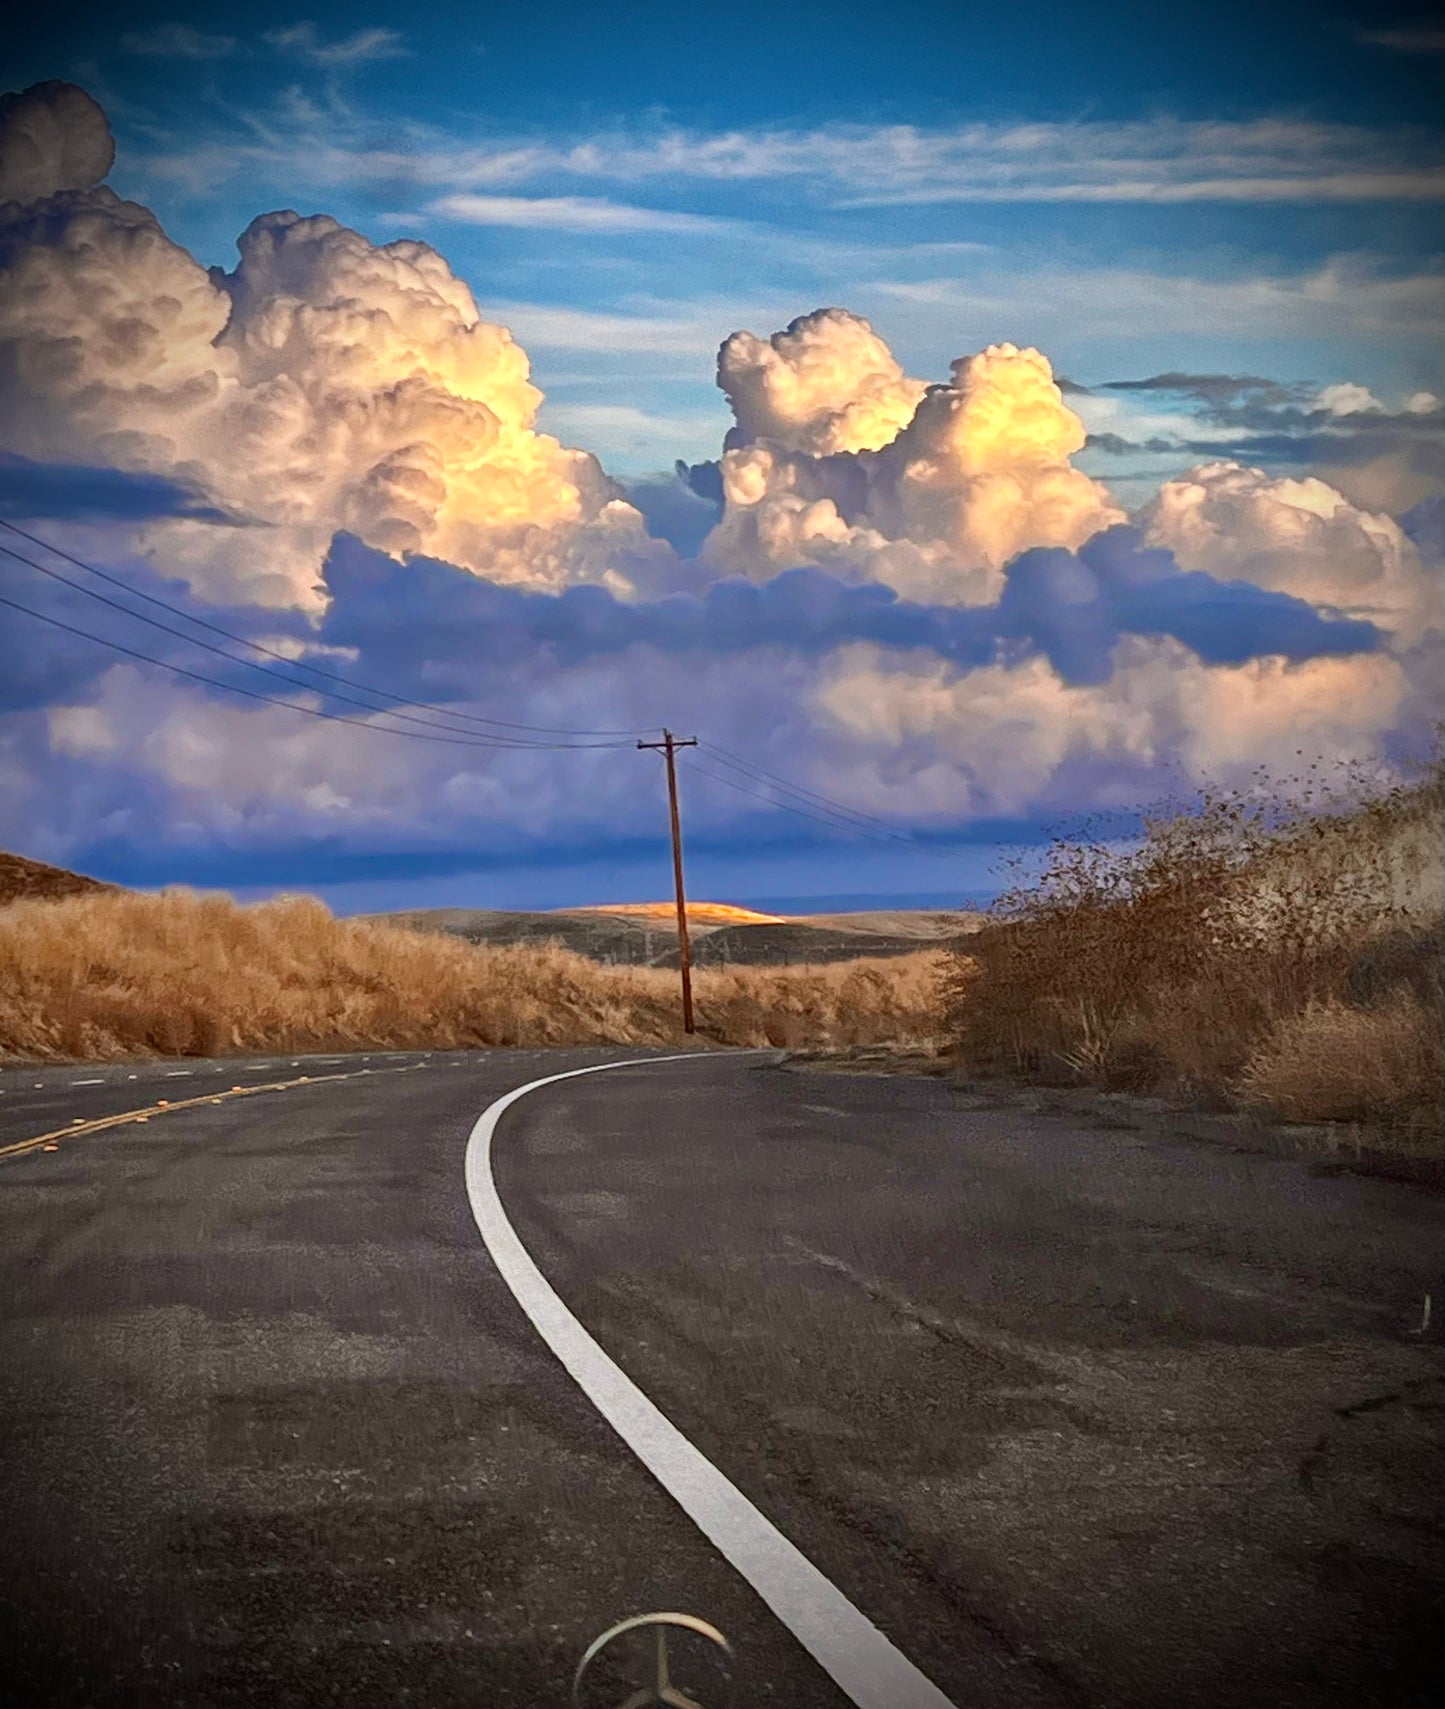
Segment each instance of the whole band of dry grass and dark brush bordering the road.
M311 897L38 887L0 906L0 1060L685 1042L663 967L335 919ZM1443 906L1440 764L1407 788L1261 779L1127 846L1059 839L955 947L697 969L697 1042L1177 1097L1445 1154Z

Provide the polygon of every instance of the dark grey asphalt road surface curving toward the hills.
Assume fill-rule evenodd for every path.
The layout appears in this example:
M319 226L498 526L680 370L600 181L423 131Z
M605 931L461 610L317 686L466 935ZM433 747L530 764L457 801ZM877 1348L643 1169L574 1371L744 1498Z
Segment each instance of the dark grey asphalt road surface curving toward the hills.
M0 1157L0 1695L545 1709L682 1606L743 1709L845 1706L480 1244L482 1109L625 1054L0 1075L0 1150L205 1099ZM1438 1196L728 1054L529 1095L495 1172L596 1340L960 1709L1435 1700Z

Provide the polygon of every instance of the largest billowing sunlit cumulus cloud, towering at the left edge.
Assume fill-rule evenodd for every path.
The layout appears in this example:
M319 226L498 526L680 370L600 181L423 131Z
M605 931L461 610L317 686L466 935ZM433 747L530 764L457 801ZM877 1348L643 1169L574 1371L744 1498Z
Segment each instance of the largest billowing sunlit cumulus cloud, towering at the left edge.
M10 451L174 479L254 523L147 533L217 596L314 602L336 528L541 586L627 588L668 555L596 458L535 429L524 352L434 250L284 212L207 272L149 208L82 186L109 142L73 96L20 113L44 142L75 108L80 140L38 149L39 198L0 210Z

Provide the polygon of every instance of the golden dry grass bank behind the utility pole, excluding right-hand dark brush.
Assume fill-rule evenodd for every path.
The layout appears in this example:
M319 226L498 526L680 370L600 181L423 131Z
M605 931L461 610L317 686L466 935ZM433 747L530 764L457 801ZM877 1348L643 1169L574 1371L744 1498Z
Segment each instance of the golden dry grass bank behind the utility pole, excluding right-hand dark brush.
M936 962L704 969L700 1034L917 1046L938 1029ZM0 909L0 1058L680 1041L673 972L340 921L309 897L113 892Z

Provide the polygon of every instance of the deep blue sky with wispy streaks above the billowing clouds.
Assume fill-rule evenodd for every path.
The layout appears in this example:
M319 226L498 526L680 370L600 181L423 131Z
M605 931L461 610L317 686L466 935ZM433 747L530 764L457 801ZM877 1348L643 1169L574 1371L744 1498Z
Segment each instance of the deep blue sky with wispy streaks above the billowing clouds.
M434 243L620 475L711 455L717 342L823 302L924 378L1011 338L1085 385L1442 383L1440 55L1407 7L162 3L27 34L12 84L91 87L113 183L200 260L270 207Z

